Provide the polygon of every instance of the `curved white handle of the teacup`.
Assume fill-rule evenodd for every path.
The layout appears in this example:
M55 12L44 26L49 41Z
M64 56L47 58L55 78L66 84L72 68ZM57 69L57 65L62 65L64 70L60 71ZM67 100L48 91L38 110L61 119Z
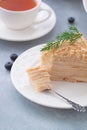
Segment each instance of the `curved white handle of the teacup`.
M34 24L40 24L40 23L43 23L43 22L47 21L47 20L51 17L52 12L51 12L50 10L40 8L39 13L41 13L42 11L47 12L47 13L48 13L48 16L47 16L47 17L45 17L43 20L40 20L40 21L35 21L35 22L34 22Z

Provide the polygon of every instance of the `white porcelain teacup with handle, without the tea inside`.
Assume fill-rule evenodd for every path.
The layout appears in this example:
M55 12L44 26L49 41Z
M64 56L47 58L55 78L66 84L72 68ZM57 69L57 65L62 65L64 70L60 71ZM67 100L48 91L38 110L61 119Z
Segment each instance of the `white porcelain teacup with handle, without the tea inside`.
M36 6L25 11L12 11L0 7L0 19L8 28L15 30L27 28L32 24L45 22L50 18L51 12L48 9L41 8L41 2L41 0L36 0ZM48 12L48 16L43 20L35 22L38 13L41 11Z

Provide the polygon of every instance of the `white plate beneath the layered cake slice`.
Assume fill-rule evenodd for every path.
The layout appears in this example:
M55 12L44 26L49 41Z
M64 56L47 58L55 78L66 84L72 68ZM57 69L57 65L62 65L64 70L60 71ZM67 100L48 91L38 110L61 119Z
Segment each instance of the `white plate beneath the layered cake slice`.
M26 69L40 63L40 49L43 45L33 47L14 62L11 70L11 79L15 88L27 99L52 108L71 108L62 99L46 92L35 92L29 82ZM52 82L53 88L63 96L87 106L87 83Z

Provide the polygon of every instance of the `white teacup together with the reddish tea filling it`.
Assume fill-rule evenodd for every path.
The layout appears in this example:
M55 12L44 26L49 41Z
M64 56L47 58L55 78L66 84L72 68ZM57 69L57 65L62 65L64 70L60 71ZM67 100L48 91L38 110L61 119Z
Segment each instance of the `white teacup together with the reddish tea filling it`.
M41 0L0 0L0 19L10 29L24 29L45 22L51 17L49 9L41 7ZM46 11L48 16L35 21L38 13Z

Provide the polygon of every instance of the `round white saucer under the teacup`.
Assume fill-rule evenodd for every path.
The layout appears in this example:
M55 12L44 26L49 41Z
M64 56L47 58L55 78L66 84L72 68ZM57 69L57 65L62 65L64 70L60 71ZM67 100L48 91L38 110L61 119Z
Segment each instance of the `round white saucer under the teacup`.
M56 16L52 8L47 4L42 3L41 7L49 9L52 12L51 17L47 21L19 31L8 29L2 21L0 21L0 39L9 41L28 41L40 38L49 33L55 26ZM46 15L46 12L42 12L42 14L37 17L37 21L38 19L43 19Z

